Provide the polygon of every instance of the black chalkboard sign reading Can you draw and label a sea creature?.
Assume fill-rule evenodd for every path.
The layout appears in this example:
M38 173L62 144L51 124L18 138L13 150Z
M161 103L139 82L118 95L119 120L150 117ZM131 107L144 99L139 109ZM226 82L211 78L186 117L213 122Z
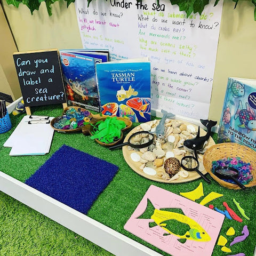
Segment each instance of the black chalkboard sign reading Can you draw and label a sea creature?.
M57 49L15 52L13 59L25 107L66 102Z

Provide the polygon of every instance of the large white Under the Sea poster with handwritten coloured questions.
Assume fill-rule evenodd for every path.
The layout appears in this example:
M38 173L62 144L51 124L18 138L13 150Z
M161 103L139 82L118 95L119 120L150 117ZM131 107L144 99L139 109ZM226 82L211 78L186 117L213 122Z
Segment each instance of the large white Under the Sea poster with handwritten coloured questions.
M109 49L111 60L148 57L151 109L207 119L223 0L187 17L178 5L155 2L75 2L83 47Z

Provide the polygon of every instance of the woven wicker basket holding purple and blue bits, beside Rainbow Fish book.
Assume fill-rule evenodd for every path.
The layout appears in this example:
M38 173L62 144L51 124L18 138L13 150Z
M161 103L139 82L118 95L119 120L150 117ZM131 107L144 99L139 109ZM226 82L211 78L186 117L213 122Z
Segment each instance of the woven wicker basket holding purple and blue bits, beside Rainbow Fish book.
M238 143L226 142L213 145L205 151L203 156L205 170L209 172L214 180L223 187L241 189L238 185L223 181L212 173L212 161L217 161L225 157L241 157L243 162L251 163L253 180L248 185L245 185L245 187L253 187L256 185L256 152L253 149L239 145Z

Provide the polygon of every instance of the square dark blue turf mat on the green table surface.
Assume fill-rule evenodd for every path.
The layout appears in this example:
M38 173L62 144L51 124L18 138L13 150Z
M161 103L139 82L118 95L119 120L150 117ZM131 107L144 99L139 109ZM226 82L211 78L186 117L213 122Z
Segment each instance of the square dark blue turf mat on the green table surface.
M87 214L117 170L114 164L63 145L25 183Z

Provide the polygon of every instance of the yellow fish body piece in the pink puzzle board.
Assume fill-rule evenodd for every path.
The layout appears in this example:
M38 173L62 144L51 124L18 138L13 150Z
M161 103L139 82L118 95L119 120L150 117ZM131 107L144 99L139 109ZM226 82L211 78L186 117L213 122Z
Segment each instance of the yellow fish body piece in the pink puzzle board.
M148 206L150 206L150 207L148 207ZM154 206L148 199L146 211L148 211L148 209L152 208L152 207L154 207ZM170 209L170 208L168 208L168 209ZM181 209L179 209L179 210L181 210ZM141 215L138 218L141 219ZM195 220L189 218L185 214L172 212L172 211L166 211L166 210L158 210L158 209L155 209L155 207L154 207L154 213L151 215L150 218L154 222L153 223L149 222L149 227L154 228L154 225L155 225L155 226L159 226L159 227L163 228L167 232L167 234L164 234L164 235L177 236L178 240L186 239L186 240L193 240L193 241L198 241L198 242L211 241L211 237L209 236L209 234L207 234L207 232L204 230L204 228L201 227ZM168 222L172 221L172 220L178 221L178 222L180 222L180 224L183 223L188 226L187 231L185 231L185 234L183 234L183 235L175 234L174 231L170 230L171 225L169 225ZM168 229L169 226L170 226L170 229Z

